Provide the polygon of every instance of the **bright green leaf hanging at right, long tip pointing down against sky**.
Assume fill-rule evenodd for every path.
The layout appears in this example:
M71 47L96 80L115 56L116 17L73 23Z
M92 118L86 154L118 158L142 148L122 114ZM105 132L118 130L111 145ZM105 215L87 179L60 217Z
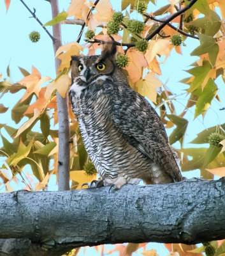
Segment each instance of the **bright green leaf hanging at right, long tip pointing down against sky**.
M212 78L208 79L208 83L205 85L203 92L200 93L196 108L194 112L194 118L199 115L205 115L205 112L211 106L211 102L217 94L218 88Z

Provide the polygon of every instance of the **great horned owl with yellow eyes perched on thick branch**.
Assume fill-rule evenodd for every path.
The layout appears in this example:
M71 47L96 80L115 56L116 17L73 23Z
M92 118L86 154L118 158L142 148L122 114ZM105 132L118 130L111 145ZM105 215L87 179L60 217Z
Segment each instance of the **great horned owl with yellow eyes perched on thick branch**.
M112 46L71 60L71 106L104 186L182 180L161 119L129 86L115 54Z

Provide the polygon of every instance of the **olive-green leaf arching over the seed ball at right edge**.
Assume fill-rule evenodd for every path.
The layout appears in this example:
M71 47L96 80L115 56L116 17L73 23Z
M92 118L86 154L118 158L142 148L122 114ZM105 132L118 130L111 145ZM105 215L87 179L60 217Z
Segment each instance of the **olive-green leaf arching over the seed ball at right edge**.
M225 130L225 124L221 124L220 126L222 127L223 130ZM225 136L225 132L223 132L222 129L220 129L218 125L207 128L204 131L198 133L197 138L195 138L194 140L192 140L189 143L192 143L192 144L208 143L208 136L210 136L210 134L212 132L220 132L220 133L224 134L224 136Z

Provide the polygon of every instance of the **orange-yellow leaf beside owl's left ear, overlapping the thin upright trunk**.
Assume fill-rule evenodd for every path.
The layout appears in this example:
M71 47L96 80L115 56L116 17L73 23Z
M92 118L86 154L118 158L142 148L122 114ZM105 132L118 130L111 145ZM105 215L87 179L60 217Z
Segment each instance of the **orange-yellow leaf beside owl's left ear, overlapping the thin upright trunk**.
M65 45L63 45L65 46ZM70 67L70 61L71 61L71 56L73 55L80 55L80 45L74 43L71 44L70 46L68 46L67 50L66 49L67 46L65 46L65 48L61 48L60 51L66 51L66 52L62 52L61 54L59 54L59 52L57 53L57 58L59 60L61 60L61 64L57 70L57 74L59 74L59 72L61 72L64 68L69 68ZM59 49L58 49L59 51Z

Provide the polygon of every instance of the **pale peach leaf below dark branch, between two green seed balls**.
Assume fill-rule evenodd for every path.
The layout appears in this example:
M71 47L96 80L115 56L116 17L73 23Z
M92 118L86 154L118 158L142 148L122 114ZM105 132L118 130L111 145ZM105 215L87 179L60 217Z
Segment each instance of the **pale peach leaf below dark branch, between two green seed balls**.
M173 49L173 45L171 45L170 40L159 39L152 40L149 43L149 48L145 53L145 58L150 63L156 55L165 55L166 58L170 55L171 49Z

